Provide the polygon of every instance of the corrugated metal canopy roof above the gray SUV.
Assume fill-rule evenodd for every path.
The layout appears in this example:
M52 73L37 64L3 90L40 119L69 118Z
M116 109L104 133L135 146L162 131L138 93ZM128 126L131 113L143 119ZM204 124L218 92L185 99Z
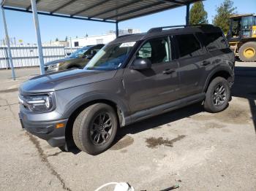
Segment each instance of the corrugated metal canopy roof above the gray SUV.
M43 15L119 22L184 6L198 0L37 0ZM30 0L2 0L4 9L31 12Z

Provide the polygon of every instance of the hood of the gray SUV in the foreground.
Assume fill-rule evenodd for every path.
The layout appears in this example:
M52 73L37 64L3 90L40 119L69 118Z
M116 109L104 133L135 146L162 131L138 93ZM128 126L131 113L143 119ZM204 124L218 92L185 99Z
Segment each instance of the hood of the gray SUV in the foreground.
M20 85L24 93L45 93L112 79L115 71L88 71L84 69L59 71L29 79Z

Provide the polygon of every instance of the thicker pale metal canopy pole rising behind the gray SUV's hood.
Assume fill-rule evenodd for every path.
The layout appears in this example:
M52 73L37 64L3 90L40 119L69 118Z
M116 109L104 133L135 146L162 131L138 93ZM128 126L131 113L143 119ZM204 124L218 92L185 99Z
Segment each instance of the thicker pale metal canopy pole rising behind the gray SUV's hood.
M34 17L34 28L36 30L36 35L37 35L37 48L38 48L38 54L39 54L40 73L45 74L44 57L42 54L41 34L40 34L39 21L38 21L38 15L37 15L37 3L35 0L31 0L31 7L32 7L32 12Z

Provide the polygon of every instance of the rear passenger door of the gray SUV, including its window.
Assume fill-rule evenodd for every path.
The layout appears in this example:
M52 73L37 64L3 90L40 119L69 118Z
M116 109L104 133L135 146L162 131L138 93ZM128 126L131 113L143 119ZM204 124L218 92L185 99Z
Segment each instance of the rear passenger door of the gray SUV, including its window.
M199 34L175 36L178 49L180 98L201 93L206 82L206 71L213 67L211 55L208 54L197 35Z

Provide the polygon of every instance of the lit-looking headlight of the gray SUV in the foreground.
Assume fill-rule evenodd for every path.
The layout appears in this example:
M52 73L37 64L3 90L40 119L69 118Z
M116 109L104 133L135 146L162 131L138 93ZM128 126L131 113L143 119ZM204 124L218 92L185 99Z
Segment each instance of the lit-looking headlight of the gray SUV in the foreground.
M50 112L53 109L53 93L46 95L19 95L19 101L31 112Z

